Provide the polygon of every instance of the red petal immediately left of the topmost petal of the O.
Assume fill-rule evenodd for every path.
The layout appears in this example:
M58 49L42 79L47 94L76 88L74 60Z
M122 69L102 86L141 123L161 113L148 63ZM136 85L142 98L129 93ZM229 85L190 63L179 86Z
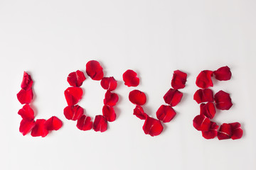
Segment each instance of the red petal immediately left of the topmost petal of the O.
M80 70L76 72L72 72L68 74L67 81L70 84L70 86L77 86L80 87L82 86L82 82L85 81L85 74L81 72Z

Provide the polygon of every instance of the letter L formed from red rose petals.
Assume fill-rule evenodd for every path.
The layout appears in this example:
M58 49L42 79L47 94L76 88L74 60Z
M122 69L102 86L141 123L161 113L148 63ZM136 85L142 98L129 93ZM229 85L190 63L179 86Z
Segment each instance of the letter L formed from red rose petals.
M17 98L23 107L18 111L18 115L21 115L21 124L19 131L22 135L31 132L33 137L46 137L51 130L59 130L63 123L60 119L53 116L48 120L37 119L35 121L35 115L33 109L31 108L31 101L33 99L33 80L31 76L24 72L23 79L21 82L21 91L18 92Z

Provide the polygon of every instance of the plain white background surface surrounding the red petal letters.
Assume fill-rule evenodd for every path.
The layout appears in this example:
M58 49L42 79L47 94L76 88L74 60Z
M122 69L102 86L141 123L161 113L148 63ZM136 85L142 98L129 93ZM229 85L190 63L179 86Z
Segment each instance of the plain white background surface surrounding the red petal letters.
M256 169L256 1L10 1L0 0L0 169ZM117 120L104 132L83 132L65 119L66 77L98 60L119 81ZM233 107L213 119L240 122L241 140L205 140L193 128L196 76L228 65L230 81L213 90L231 94ZM144 135L122 73L134 69L156 118L176 69L188 73L176 117L158 137ZM16 99L23 71L31 74L36 119L52 115L63 128L47 137L18 132ZM105 91L88 78L80 101L101 114Z

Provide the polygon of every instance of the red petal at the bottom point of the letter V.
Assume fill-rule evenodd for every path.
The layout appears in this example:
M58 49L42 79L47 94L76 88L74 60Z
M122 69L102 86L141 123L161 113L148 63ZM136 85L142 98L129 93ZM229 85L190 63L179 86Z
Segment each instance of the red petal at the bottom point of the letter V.
M163 125L161 125L160 120L156 120L154 118L150 118L149 116L146 116L146 120L143 125L144 133L147 135L157 136L160 135L163 131Z

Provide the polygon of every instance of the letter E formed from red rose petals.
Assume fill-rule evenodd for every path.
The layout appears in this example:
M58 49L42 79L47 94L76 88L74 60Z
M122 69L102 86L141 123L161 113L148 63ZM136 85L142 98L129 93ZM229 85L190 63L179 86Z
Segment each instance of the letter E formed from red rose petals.
M218 91L213 95L213 91L208 89L213 86L212 77L219 81L228 81L231 79L231 72L228 66L220 67L215 71L203 70L196 78L196 86L198 89L193 99L200 104L200 115L196 115L193 119L193 127L202 132L206 139L213 139L216 136L218 140L233 139L237 140L242 137L242 128L240 123L223 123L219 126L211 121L215 116L215 109L229 110L233 103L230 94L225 91ZM218 130L219 128L219 130Z

